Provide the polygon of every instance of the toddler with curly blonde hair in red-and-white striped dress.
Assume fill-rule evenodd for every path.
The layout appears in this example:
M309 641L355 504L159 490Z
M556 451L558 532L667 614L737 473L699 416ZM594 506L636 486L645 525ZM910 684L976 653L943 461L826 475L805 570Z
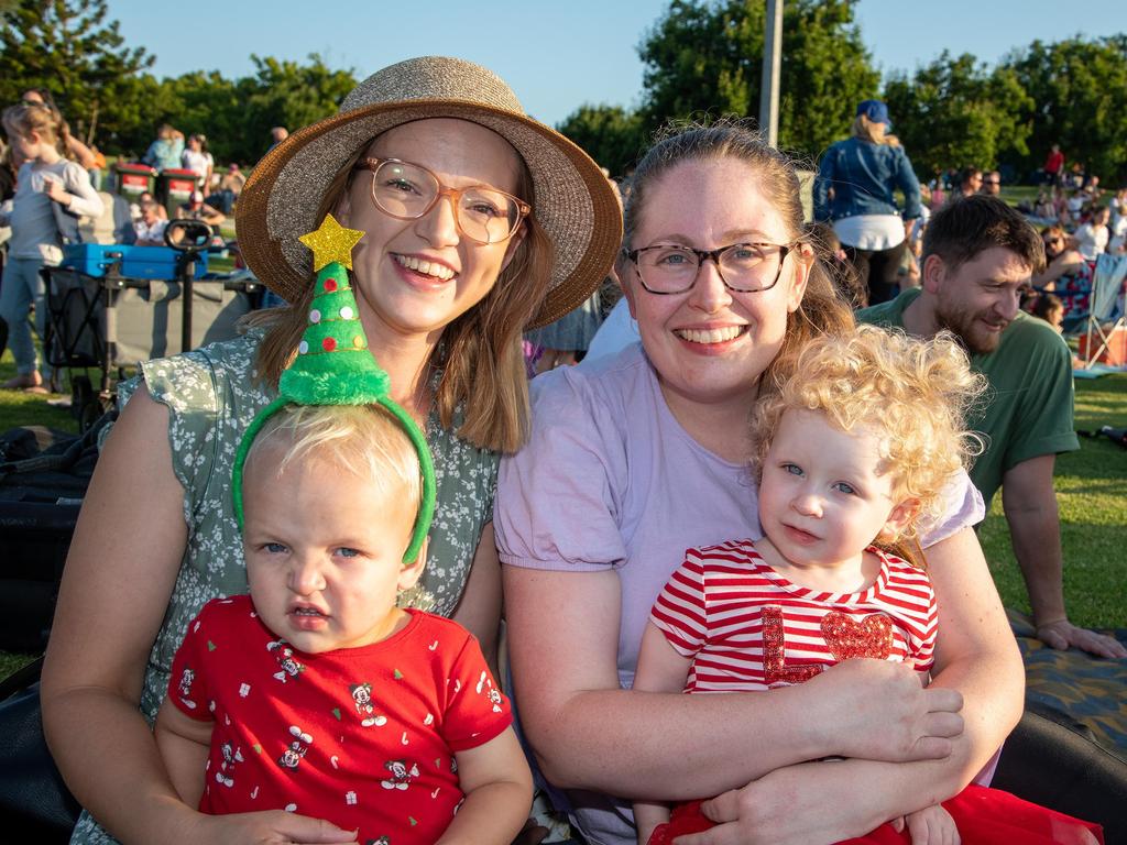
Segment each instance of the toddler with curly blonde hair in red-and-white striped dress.
M635 690L764 691L852 658L907 662L926 684L939 616L917 527L941 512L944 482L980 447L964 413L983 380L947 337L864 326L816 339L787 372L753 417L764 537L685 553L650 614ZM699 801L672 821L656 803L636 803L635 817L642 845L713 825ZM1098 836L1097 825L970 785L849 842Z

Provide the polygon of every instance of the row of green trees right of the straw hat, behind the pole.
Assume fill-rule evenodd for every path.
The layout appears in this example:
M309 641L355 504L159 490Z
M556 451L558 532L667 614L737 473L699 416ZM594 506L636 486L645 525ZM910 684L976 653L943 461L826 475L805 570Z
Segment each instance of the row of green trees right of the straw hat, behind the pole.
M880 73L855 0L787 0L779 144L811 164L845 137L857 104L888 103L921 178L952 167L1024 177L1054 143L1104 180L1127 179L1127 35L1035 41L990 68L943 52L915 71ZM622 174L669 121L757 117L763 0L673 0L638 45L640 105L584 105L560 131Z

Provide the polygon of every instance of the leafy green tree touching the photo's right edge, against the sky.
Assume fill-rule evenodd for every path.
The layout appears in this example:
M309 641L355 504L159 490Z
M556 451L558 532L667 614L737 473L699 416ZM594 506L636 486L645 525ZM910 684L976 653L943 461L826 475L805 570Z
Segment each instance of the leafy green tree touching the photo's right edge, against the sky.
M1031 127L1028 172L1058 143L1103 179L1127 178L1127 35L1056 44L1035 41L1002 64L1029 95L1022 112Z

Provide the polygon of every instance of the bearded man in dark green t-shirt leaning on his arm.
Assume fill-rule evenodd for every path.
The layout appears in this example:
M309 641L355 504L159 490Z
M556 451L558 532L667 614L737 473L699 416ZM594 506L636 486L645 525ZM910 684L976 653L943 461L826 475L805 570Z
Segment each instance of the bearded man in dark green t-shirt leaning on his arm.
M862 322L930 337L953 332L990 388L969 427L986 451L970 471L987 507L999 487L1013 553L1046 644L1127 657L1116 640L1073 625L1064 606L1061 522L1053 469L1080 448L1073 430L1072 354L1048 323L1018 310L1019 288L1045 266L1024 217L994 197L952 202L924 234L922 287L859 311Z

